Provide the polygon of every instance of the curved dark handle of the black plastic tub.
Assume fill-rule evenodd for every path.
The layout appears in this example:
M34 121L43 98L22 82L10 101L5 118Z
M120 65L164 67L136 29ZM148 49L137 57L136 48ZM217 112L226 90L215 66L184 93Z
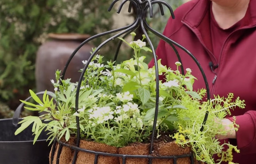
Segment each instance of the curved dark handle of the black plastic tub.
M40 95L40 94L44 94L45 91L42 91L42 92L37 92L36 95ZM46 91L46 94L54 97L54 93L51 92L51 91ZM25 99L25 101L28 101L29 99L31 99L32 97L29 96L27 99ZM23 109L23 106L24 106L24 103L22 102L21 104L19 104L19 106L16 108L14 114L13 114L13 117L12 117L12 124L17 127L18 125L18 122L19 122L19 116L21 115L21 111Z

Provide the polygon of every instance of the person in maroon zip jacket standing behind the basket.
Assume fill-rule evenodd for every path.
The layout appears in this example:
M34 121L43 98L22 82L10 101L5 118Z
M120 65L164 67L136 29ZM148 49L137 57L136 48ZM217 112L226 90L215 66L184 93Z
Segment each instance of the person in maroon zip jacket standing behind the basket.
M256 0L192 0L175 10L164 35L190 51L202 66L209 82L210 94L234 93L245 100L245 109L234 109L239 130L217 136L237 145L233 162L256 163ZM179 51L179 50L178 50ZM173 49L163 40L156 50L162 64L176 68ZM179 51L182 64L197 77L194 89L205 87L203 77L192 58ZM153 60L149 66L153 66ZM207 124L207 122L206 122Z

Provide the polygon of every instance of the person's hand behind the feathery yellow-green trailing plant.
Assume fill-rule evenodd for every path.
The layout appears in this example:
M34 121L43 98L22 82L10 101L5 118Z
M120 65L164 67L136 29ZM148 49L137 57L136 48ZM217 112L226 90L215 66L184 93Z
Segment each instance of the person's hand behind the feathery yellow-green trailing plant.
M216 135L217 139L223 140L223 139L236 139L236 133L235 133L235 128L233 125L233 122L230 121L229 119L222 119L220 121L222 125L224 126L225 130L228 131L227 135Z

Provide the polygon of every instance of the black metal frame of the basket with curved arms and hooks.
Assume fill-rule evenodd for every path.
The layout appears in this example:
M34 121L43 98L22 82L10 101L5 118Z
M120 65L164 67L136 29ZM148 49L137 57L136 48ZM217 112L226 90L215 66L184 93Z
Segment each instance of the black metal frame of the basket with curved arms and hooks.
M112 7L115 5L116 2L118 2L120 0L114 0L108 11L111 11ZM152 53L153 53L153 59L154 59L154 63L155 63L155 71L156 71L156 107L155 107L155 117L154 117L154 122L153 122L153 128L152 128L152 138L151 138L151 142L150 142L150 154L152 154L152 151L153 151L153 142L154 142L154 136L155 136L155 131L156 131L156 122L157 122L157 114L158 114L158 104L159 104L159 74L158 74L158 65L157 65L157 57L156 57L156 52L155 52L155 49L153 47L153 44L149 38L149 35L147 34L147 31L146 30L149 30L151 33L155 34L156 36L158 36L160 39L164 40L165 42L167 42L172 48L173 48L173 51L176 53L176 56L179 60L179 62L181 63L181 73L184 75L184 68L182 66L182 61L181 61L181 58L180 58L180 55L177 51L177 49L175 48L178 47L180 48L182 51L186 52L193 60L194 62L197 64L202 76L203 76L203 79L204 79L204 83L205 83L205 87L206 87L206 93L207 93L207 100L209 101L210 100L210 92L209 92L209 85L208 85L208 81L206 79L206 76L205 76L205 73L201 67L201 65L199 64L198 60L194 57L194 55L189 52L186 48L182 47L180 44L176 43L175 41L169 39L168 37L162 35L161 33L157 32L156 30L154 30L153 28L151 28L149 26L149 24L147 23L146 21L146 16L147 16L147 10L149 9L149 14L150 14L150 18L153 17L153 8L152 8L152 5L153 4L158 4L159 7L160 7L160 11L161 11L161 14L162 16L164 15L164 10L163 10L163 5L166 6L170 13L171 13L171 17L174 19L174 13L173 13L173 9L171 8L171 6L167 3L167 2L164 2L162 0L123 0L117 10L117 13L120 13L121 10L122 10L122 7L123 5L129 1L129 7L128 7L128 12L131 12L131 9L132 9L132 5L135 6L135 9L136 9L136 18L135 18L135 21L130 24L130 25L127 25L125 27L122 27L122 28L118 28L118 29L114 29L114 30L110 30L110 31L107 31L107 32L104 32L104 33L101 33L101 34L97 34L97 35L94 35L92 37L89 37L87 40L83 41L80 46L78 46L74 52L70 55L70 58L68 59L64 69L63 69L63 73L62 73L62 79L64 79L64 76L65 76L65 72L66 72L66 69L68 68L68 65L70 63L70 61L72 60L72 58L74 57L74 55L77 53L77 51L83 46L85 45L87 42L97 38L97 37L101 37L101 36L104 36L104 35L107 35L107 34L112 34L112 33L116 33L118 31L121 31L120 33L110 37L109 39L105 40L104 42L102 42L96 49L95 51L92 53L92 55L89 57L87 63L85 64L84 68L83 68L83 71L81 73L81 76L80 76L80 79L78 81L78 84L77 84L77 91L76 91L76 100L75 100L75 110L77 112L78 110L78 98L79 98L79 90L80 90L80 87L81 87L81 83L82 83L82 80L83 80L83 76L85 74L85 71L86 69L88 68L89 66L89 63L92 61L93 57L98 53L98 51L100 50L100 48L102 48L103 46L105 46L108 42L116 39L117 37L120 37L123 35L123 39L125 39L132 31L135 31L137 28L141 28L143 33L145 34L146 36L146 39L147 39L147 42L149 43L150 45L150 48L152 49ZM120 50L120 47L122 45L123 41L121 40L117 46L117 51L116 51L116 54L115 54L115 58L114 58L114 61L117 59L117 55L119 53L119 50ZM174 46L175 45L175 46ZM204 129L204 125L206 123L206 120L207 120L207 117L208 117L208 111L206 111L205 113L205 116L204 116L204 120L203 120L203 124L202 124L202 127L200 129L200 131L203 131ZM181 156L159 156L159 157L156 157L156 156L150 156L150 155L145 155L145 156L142 156L142 155L125 155L125 154L112 154L112 153L104 153L104 152L96 152L96 151L91 151L91 150L86 150L86 149L83 149L83 148L80 148L79 147L79 143L80 143L80 126L79 126L79 117L76 116L76 123L77 123L77 139L76 139L76 146L72 146L72 145L69 145L69 144L66 144L62 141L57 141L57 139L54 140L53 142L53 146L52 146L52 152L51 152L51 164L53 164L53 157L54 157L54 153L55 153L55 147L57 145L57 142L59 144L59 148L57 150L57 161L56 161L56 164L59 164L59 157L60 157L60 153L62 151L62 147L63 146L66 146L66 147L69 147L71 148L72 150L74 150L74 157L73 157L73 160L72 160L72 164L75 164L76 163L76 158L77 158L77 153L78 151L82 151L82 152L87 152L87 153L93 153L95 154L95 160L94 160L94 164L97 164L98 163L98 156L99 155L104 155L104 156L115 156L115 157L120 157L123 159L123 164L126 163L126 158L147 158L149 159L149 164L152 164L152 159L173 159L174 160L174 164L177 163L177 159L178 158L185 158L185 157L190 157L191 158L191 164L194 163L194 155L193 153L190 153L190 154L184 154L184 155L181 155Z

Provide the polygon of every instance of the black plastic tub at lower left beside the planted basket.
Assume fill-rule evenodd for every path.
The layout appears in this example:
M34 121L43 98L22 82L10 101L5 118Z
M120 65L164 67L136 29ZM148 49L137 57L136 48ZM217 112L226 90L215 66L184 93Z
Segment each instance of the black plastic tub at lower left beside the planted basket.
M21 118L19 119L19 121ZM51 145L46 142L47 132L41 133L33 145L32 125L18 135L12 119L0 119L0 163L1 164L49 164Z

